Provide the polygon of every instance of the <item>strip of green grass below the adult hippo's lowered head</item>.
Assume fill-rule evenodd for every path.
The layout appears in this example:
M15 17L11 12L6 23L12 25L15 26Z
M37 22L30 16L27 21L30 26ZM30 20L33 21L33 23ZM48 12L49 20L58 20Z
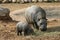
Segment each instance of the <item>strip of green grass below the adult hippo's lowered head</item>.
M54 36L54 35L57 35L57 34L60 34L60 32L58 32L58 31L55 31L55 32L35 31L35 32L33 33L33 36Z

